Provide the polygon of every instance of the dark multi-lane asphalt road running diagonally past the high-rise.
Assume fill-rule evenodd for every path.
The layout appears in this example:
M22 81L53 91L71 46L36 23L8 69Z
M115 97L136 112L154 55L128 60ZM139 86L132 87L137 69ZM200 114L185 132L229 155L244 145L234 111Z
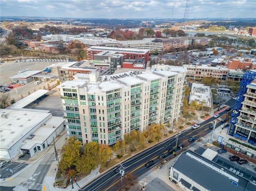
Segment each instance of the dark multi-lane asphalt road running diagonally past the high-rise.
M230 99L225 104L233 108L235 103L234 99ZM227 111L224 110L220 112L220 116L226 114ZM198 140L200 137L205 136L208 133L211 133L212 130L209 129L209 127L212 125L212 122L216 118L211 117L208 120L205 120L200 124L200 128L194 130L194 129L187 129L181 132L178 136L178 143L183 142L185 146L189 146L190 144L193 144L194 142L188 142L188 139L191 137L194 137L196 140ZM216 124L216 128L221 126L223 123L218 122ZM139 177L146 173L148 170L150 170L152 167L158 165L162 160L164 159L158 159L158 156L164 152L167 152L171 148L174 148L176 146L176 136L173 136L169 138L168 140L165 140L164 142L160 142L158 145L153 146L152 148L149 148L148 150L133 156L130 159L127 159L122 163L122 166L125 168L125 175L128 173L132 173L134 177ZM177 148L176 152L178 152L180 148ZM172 154L168 154L167 158L171 157ZM154 160L154 165L150 167L145 167L145 164L150 161ZM82 190L86 191L116 191L120 189L120 173L116 172L116 167L113 167L112 169L108 170L106 173L98 176L96 179L94 179L89 184L82 187Z

